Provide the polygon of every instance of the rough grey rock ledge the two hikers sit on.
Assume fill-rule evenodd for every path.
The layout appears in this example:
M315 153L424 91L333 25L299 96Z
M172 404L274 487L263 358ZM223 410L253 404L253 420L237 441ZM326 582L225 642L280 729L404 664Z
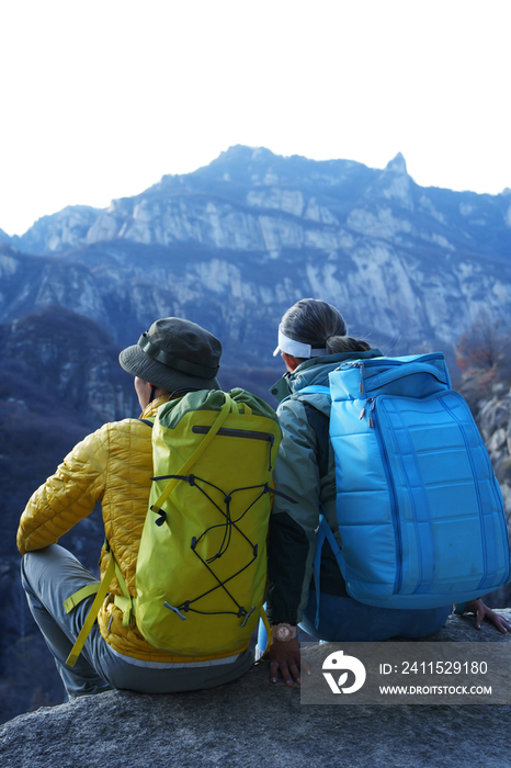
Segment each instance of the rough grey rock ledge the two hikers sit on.
M511 618L511 611L502 611ZM442 642L511 642L451 617ZM208 691L110 691L42 708L2 727L4 768L466 768L509 765L509 705L302 705L268 665Z

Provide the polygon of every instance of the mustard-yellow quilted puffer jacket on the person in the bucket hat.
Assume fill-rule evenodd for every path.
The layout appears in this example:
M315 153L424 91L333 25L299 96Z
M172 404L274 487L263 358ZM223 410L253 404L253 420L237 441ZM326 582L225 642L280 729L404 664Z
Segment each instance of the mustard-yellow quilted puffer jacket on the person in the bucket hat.
M141 418L151 418L168 397L149 404ZM136 596L135 572L138 545L146 519L152 475L151 430L138 419L105 423L78 443L31 497L20 520L18 549L22 554L55 544L101 501L105 535L132 596ZM107 566L101 552L101 576ZM134 621L123 626L123 614L114 606L121 595L114 578L98 622L105 641L115 651L147 662L192 662L158 651L140 634Z

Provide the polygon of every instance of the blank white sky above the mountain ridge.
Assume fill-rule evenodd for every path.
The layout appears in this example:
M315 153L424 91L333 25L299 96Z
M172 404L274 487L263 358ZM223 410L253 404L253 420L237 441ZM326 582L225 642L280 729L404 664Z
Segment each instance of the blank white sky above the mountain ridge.
M0 228L234 144L511 187L510 0L0 0Z

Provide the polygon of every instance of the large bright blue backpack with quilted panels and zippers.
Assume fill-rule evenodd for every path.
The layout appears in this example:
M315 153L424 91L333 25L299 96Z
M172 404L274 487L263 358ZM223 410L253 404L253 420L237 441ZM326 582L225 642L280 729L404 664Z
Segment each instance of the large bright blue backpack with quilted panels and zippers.
M509 581L502 495L443 354L345 362L329 379L297 393L331 397L342 549L321 517L316 578L327 538L370 606L436 608Z

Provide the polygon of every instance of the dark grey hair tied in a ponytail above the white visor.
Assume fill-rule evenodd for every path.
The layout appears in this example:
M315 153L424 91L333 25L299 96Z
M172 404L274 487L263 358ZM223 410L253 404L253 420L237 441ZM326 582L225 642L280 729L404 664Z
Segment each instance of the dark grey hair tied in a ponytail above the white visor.
M326 348L327 354L371 349L367 341L347 336L347 324L339 309L320 298L296 302L282 318L281 328L289 339L310 345L313 349Z

